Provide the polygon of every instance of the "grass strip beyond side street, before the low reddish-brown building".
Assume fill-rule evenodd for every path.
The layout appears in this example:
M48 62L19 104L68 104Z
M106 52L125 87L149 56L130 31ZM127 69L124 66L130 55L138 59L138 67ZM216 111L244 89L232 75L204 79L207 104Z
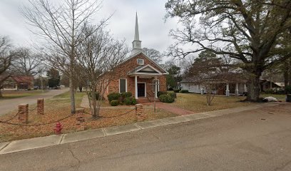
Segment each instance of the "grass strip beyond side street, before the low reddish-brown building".
M3 97L0 98L0 100L4 99L11 99L11 98L23 98L31 95L40 95L42 93L46 93L47 90L23 90L23 91L18 91L18 90L4 90L1 91Z

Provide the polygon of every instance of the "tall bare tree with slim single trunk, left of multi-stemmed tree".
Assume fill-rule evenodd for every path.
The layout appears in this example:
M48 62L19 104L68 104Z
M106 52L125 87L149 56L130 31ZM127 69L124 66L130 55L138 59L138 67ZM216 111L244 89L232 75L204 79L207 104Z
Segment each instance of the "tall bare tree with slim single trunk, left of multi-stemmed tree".
M48 60L69 77L71 113L75 113L73 72L76 64L76 48L83 42L82 26L101 8L101 1L64 0L53 4L48 0L29 0L30 7L24 7L23 14L32 31L48 41ZM102 26L106 21L101 21ZM65 63L66 65L63 65Z

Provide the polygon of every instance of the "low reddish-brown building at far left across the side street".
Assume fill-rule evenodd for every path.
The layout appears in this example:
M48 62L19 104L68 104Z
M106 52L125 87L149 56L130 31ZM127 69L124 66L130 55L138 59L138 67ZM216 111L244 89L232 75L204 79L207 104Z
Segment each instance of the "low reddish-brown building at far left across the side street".
M34 77L9 76L2 85L4 90L31 90L34 89Z

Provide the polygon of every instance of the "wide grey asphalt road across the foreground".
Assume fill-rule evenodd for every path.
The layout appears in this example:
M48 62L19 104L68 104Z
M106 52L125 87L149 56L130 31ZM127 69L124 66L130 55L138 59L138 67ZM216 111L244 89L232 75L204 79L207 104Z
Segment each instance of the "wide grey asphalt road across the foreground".
M0 170L291 170L291 103L0 155Z

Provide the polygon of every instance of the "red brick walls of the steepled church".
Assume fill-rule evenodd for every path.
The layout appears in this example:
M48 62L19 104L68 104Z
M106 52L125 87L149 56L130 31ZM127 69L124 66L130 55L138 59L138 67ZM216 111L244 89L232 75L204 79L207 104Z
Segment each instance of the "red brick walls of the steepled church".
M107 74L105 79L110 80L110 83L108 85L108 91L105 93L105 97L107 98L108 93L119 93L119 79L120 78L126 78L127 79L127 91L131 92L133 96L136 92L135 87L135 78L134 76L128 76L128 72L132 71L134 68L138 67L137 58L142 58L144 61L144 65L150 65L153 66L153 68L157 69L160 72L163 72L158 68L158 66L155 65L152 61L148 60L143 53L138 54L138 56L135 56L131 58L130 60L126 61L125 63L121 63L121 65L117 66L113 73ZM146 92L153 94L153 86L149 85L153 83L154 76L151 78L138 78L138 82L146 82ZM166 90L166 78L164 76L158 76L158 79L160 80L160 91Z

